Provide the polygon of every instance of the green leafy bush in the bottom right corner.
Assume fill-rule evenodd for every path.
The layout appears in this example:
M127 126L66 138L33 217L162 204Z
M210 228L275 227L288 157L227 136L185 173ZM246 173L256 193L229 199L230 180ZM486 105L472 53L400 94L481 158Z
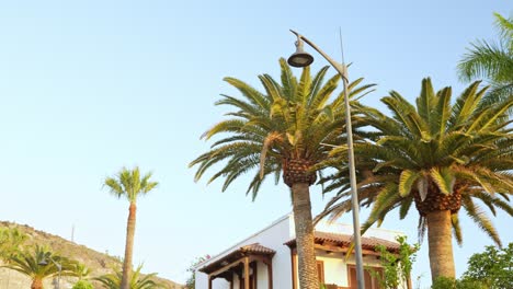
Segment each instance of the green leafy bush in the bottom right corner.
M487 246L468 259L463 279L481 282L486 288L513 288L513 243L502 248Z

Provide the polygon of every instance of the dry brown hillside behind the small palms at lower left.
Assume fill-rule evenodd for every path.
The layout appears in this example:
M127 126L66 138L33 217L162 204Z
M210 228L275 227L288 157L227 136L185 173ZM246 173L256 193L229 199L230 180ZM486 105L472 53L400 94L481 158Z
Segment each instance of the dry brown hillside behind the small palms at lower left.
M26 224L18 224L13 222L0 221L0 228L18 228L21 232L25 233L29 239L25 245L46 245L52 248L53 252L59 255L79 261L92 270L92 277L96 277L103 274L112 271L112 268L121 268L121 261L117 257L110 256L104 253L100 253L84 245L77 244L58 235L49 234L44 231L35 230ZM182 288L181 285L163 279L155 278L156 281L163 284L169 289ZM62 278L61 288L71 288L69 284L72 284L72 279ZM52 287L53 280L48 280L47 287ZM66 286L68 285L68 286ZM7 269L0 268L0 288L2 289L22 289L30 288L30 280L25 276Z

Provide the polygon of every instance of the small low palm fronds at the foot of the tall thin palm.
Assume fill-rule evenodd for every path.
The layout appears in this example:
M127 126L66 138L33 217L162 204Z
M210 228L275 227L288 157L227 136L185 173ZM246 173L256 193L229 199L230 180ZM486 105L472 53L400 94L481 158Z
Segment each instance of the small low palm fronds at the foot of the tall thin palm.
M158 288L164 288L162 285L151 280L155 276L157 276L156 273L148 274L145 276L140 275L140 269L142 268L142 265L139 265L137 269L134 271L134 274L130 277L129 281L129 289L158 289ZM119 289L121 288L121 280L123 278L123 273L119 270L116 270L112 274L106 274L100 277L94 278L94 280L100 281L103 285L103 288L106 289Z

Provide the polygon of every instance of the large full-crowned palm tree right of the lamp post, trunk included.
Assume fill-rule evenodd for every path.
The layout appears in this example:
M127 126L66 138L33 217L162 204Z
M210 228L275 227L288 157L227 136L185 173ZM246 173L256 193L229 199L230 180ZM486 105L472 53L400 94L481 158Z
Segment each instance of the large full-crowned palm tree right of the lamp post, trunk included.
M493 215L502 209L513 216L509 204L513 136L508 125L513 97L490 103L493 96L486 91L475 82L451 104L451 88L435 93L431 80L424 79L417 107L392 91L381 99L392 117L362 108L366 122L377 129L375 136L355 144L361 206L373 205L362 230L376 222L379 226L396 208L403 219L415 204L421 240L428 230L433 280L455 277L452 232L461 244L461 207L499 245L497 230L475 200L482 201ZM333 154L345 150L337 149ZM335 219L351 210L346 170L341 167L321 181L332 182L326 192L338 194L318 219Z

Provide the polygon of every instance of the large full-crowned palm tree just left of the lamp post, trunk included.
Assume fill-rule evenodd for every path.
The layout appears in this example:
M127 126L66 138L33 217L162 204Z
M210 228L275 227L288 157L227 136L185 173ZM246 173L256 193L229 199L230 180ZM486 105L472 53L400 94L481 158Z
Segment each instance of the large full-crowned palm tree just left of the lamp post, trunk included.
M309 186L317 180L312 167L324 160L331 149L323 143L344 141L343 94L333 95L340 80L338 74L323 82L328 67L314 77L307 67L298 80L285 59L280 59L280 66L281 83L269 74L259 77L263 93L240 80L225 78L242 97L221 95L216 104L228 105L232 109L228 114L230 118L202 137L208 140L221 135L221 139L190 166L198 165L195 174L198 181L210 166L224 163L208 181L223 176L223 190L253 170L254 176L247 190L253 199L266 176L274 175L277 184L283 173L283 181L292 190L299 285L318 289ZM361 81L350 84L351 96L368 92L372 85L356 88Z

